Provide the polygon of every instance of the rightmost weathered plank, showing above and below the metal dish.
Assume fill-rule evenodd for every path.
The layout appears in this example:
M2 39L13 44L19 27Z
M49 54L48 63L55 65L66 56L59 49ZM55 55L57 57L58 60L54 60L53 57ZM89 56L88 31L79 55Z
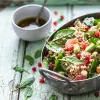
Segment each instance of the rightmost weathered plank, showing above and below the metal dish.
M74 6L72 8L72 16L76 18L87 13L99 12L99 8L100 6ZM94 93L95 92L71 96L71 100L100 100L100 97L95 97Z

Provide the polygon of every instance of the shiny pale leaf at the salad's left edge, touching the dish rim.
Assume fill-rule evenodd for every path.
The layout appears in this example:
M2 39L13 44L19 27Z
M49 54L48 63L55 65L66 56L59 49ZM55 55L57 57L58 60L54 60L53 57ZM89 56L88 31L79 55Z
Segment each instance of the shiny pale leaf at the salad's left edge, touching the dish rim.
M60 51L64 51L59 45L55 44L52 41L47 42L46 48L55 52L55 53L59 53Z

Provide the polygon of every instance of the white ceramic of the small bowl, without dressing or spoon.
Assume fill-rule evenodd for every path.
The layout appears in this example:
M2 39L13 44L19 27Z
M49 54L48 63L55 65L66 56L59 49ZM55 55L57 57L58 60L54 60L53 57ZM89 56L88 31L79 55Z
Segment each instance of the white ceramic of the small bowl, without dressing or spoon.
M17 25L17 23L27 17L36 17L41 9L41 5L30 4L17 8L12 14L12 25L17 36L26 41L36 41L45 38L51 29L51 13L47 7L40 17L44 18L47 22L41 27L35 29L25 29Z

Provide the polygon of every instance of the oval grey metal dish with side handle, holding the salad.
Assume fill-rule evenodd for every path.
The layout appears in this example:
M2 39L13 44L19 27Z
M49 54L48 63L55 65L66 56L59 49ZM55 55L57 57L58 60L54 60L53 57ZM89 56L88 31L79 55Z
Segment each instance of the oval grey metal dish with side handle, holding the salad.
M98 21L99 21L99 19L100 19L100 13L98 12L98 13L86 14L86 15L77 17L77 18L75 18L75 19L67 22L65 25L63 25L62 27L60 27L56 32L54 32L49 37L47 43L44 45L44 48L43 48L43 52L42 52L43 68L41 68L39 71L40 71L41 75L43 75L45 77L45 79L46 79L46 81L47 81L47 83L49 85L51 85L56 91L61 92L63 94L73 94L73 95L75 95L75 94L82 94L82 93L91 92L91 91L94 91L94 90L100 88L100 76L99 75L95 75L93 77L92 77L92 75L91 76L86 76L87 78L82 78L82 79L76 79L76 78L70 79L69 77L66 77L65 75L63 75L62 73L58 73L58 72L56 72L54 70L51 70L48 67L50 65L48 65L47 62L44 61L44 58L45 58L45 56L47 55L47 52L48 52L48 48L50 49L50 47L47 47L46 45L49 43L49 41L52 41L55 38L56 33L59 30L63 30L63 29L66 29L68 27L71 27L71 26L75 25L74 23L75 23L75 21L77 19L80 20L81 22L83 22L84 19L87 20L86 18L90 18L90 20L92 18L93 18L93 20L98 19ZM92 21L90 21L90 24L91 24ZM85 24L87 26L89 26L88 23L85 23ZM90 25L89 28L91 26L92 25ZM85 31L88 31L87 28L86 28ZM87 32L86 32L86 34L87 34ZM70 37L70 35L69 35L69 37ZM89 39L90 38L91 37L89 37ZM96 37L96 38L98 38L98 40L100 40L100 35L99 35L99 37ZM89 49L87 51L89 52L92 49ZM58 51L60 51L60 49ZM56 51L54 51L54 52L56 52ZM58 55L59 54L60 54L60 52L58 53ZM95 58L96 57L94 57L94 59ZM73 61L77 62L76 60L73 60ZM70 63L72 63L72 62L70 62ZM95 64L97 64L97 62L95 62ZM99 64L99 62L98 62L98 64ZM92 63L92 65L93 65L93 63ZM95 71L96 71L96 69L90 68L87 73L88 73L88 75L90 75L90 72L95 72Z

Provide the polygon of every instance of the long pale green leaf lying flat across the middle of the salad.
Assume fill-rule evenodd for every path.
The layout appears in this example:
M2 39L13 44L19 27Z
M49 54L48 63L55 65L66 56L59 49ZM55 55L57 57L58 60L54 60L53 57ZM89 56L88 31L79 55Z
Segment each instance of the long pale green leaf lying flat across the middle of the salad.
M60 61L69 62L72 64L82 64L83 62L76 57L73 56L65 56Z

